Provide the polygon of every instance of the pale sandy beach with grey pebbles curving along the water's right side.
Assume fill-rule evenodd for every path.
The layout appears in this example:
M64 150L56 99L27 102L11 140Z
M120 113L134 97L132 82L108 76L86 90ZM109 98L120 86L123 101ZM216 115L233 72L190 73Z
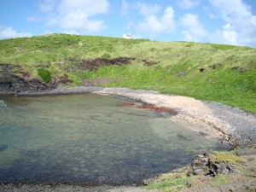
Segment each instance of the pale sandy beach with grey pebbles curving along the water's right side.
M256 116L239 108L218 102L203 102L188 96L163 95L152 90L104 88L93 93L125 96L158 107L172 108L177 115L172 120L200 131L208 137L218 137L236 145L256 144Z

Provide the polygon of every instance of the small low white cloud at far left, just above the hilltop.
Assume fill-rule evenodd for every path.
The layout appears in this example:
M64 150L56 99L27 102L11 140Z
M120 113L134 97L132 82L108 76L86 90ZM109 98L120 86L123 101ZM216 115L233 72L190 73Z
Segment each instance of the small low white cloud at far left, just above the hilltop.
M15 29L9 26L0 26L0 38L22 38L32 37L31 32L16 32Z

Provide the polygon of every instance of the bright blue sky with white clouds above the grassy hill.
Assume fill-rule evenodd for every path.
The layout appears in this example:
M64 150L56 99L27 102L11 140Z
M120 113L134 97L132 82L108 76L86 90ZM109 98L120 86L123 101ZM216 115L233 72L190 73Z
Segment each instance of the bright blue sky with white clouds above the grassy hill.
M256 0L0 0L0 39L49 33L256 47Z

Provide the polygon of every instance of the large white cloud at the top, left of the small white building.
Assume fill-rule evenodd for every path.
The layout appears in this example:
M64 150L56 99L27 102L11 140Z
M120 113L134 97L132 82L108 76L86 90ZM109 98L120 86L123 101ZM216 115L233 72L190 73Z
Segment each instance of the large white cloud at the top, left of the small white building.
M61 26L64 32L100 32L106 27L103 20L95 20L92 17L108 12L108 0L44 0L44 3L50 4L44 4L44 10L51 10L47 25ZM52 9L54 3L56 9Z

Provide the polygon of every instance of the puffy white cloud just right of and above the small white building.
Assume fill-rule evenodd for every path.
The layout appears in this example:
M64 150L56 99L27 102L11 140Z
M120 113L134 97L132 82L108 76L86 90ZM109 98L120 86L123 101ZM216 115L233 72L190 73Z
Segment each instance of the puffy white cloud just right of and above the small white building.
M174 9L171 6L167 7L164 15L160 18L154 14L145 16L144 22L139 23L138 28L141 32L153 35L161 32L173 32L176 29Z

